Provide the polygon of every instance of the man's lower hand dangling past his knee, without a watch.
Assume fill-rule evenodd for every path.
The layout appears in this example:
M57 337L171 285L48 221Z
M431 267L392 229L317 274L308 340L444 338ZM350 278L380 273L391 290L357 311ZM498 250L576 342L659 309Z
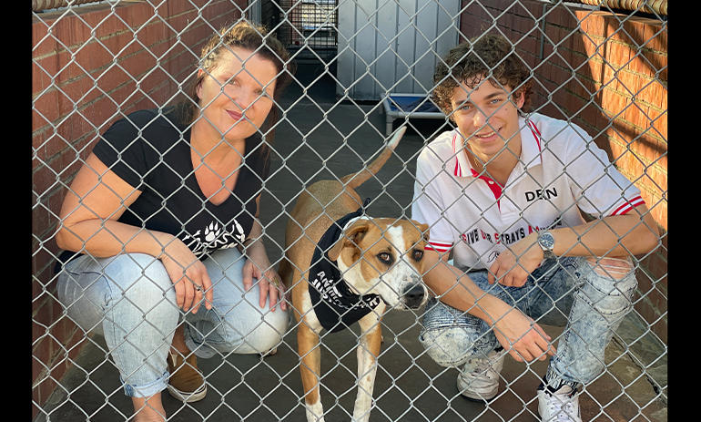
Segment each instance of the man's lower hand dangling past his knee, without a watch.
M493 331L503 348L518 362L543 361L548 355L557 353L543 328L518 309L513 308L504 314L494 324Z

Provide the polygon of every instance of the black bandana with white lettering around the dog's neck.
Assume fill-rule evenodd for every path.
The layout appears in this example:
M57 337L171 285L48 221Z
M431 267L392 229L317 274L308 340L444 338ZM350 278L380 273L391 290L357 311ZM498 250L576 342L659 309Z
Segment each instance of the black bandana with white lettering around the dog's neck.
M369 202L370 199L365 200L363 208ZM321 236L321 240L311 257L312 267L309 283L311 304L321 326L330 333L348 328L363 316L370 314L372 309L380 304L381 299L378 294L361 296L353 293L348 284L341 278L336 262L329 259L328 252L324 252L339 240L343 227L348 221L362 216L363 208L359 208L358 211L351 212L331 224L329 230Z

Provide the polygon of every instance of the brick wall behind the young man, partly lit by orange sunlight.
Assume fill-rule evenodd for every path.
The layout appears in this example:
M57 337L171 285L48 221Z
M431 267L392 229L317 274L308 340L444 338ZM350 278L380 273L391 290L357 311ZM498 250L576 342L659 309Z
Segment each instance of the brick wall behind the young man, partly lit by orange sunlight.
M662 246L640 257L635 310L666 343L666 26L529 0L482 3L462 2L462 33L469 38L498 27L533 69L533 108L587 130L642 190Z

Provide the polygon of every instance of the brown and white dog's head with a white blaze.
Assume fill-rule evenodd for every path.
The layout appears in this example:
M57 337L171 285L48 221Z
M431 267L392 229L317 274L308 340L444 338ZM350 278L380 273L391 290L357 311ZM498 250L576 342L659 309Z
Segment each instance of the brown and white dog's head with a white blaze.
M356 293L379 294L397 309L417 309L428 300L422 283L428 225L417 221L361 219L346 228L329 251Z

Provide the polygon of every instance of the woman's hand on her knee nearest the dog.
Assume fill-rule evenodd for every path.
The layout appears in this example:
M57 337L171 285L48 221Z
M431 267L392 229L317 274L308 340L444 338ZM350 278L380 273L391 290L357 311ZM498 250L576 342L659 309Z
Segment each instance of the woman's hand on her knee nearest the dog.
M260 307L265 307L270 297L270 310L275 312L278 303L280 309L287 310L285 301L285 284L280 281L278 273L272 269L268 254L262 242L252 242L246 247L248 260L243 264L243 287L248 292L253 285L253 279L258 279L260 289Z

